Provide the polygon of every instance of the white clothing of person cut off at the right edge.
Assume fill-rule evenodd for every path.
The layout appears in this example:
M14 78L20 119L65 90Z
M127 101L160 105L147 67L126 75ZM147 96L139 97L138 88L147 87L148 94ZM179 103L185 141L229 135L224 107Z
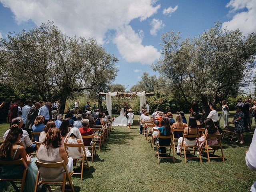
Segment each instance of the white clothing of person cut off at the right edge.
M250 144L249 150L245 156L246 165L252 171L256 170L256 132L254 131L252 137L252 143ZM252 192L256 192L256 182L251 187Z

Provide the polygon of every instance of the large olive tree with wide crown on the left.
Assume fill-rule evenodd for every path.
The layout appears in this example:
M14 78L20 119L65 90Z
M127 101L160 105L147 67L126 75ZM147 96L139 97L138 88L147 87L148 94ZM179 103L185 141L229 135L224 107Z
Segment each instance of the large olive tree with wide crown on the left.
M118 72L118 59L96 40L69 37L52 22L8 34L0 41L0 52L6 79L16 86L32 86L44 100L58 98L60 113L70 94L112 82Z

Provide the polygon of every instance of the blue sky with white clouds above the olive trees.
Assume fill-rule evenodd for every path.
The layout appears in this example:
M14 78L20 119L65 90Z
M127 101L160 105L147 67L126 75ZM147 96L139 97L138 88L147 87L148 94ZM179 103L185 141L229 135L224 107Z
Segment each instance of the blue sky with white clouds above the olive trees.
M128 89L143 72L156 74L150 64L160 57L162 33L192 38L220 21L246 35L256 32L253 18L256 0L0 0L0 36L52 20L70 36L95 38L118 57L114 83Z

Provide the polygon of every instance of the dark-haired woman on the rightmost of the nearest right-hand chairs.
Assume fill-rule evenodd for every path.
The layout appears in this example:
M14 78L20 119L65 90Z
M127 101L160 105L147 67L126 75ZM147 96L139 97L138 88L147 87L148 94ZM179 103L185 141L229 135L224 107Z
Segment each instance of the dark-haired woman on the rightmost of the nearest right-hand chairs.
M216 127L214 125L214 122L211 118L206 118L205 122L205 133L204 136L200 137L198 139L199 144L200 144L200 148L202 147L202 144L204 143L205 140L205 135L206 134L210 134L210 135L216 135L216 134L220 134L220 132L218 131L218 127ZM212 138L207 138L207 144L208 145L217 145L218 144L218 140L216 138L212 139Z

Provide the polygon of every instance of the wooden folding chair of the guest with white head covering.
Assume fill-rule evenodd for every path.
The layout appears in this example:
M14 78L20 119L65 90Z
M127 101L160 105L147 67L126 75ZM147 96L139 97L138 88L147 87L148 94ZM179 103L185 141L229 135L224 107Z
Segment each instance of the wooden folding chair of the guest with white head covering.
M84 143L78 143L78 144L70 144L70 143L64 143L64 148L66 151L68 151L68 148L70 147L74 147L74 148L82 148L84 154L82 154L82 156L80 158L73 158L74 162L75 160L81 160L81 173L75 173L74 172L74 175L81 175L81 179L80 181L82 181L83 179L83 172L84 172L84 163L86 162L86 165L87 165L87 168L88 170L90 169L90 166L89 166L89 163L88 163L88 160L87 160L87 156L86 156L86 151L85 151L85 148L84 148ZM78 162L76 161L76 163ZM76 166L76 163L75 163L75 166Z

